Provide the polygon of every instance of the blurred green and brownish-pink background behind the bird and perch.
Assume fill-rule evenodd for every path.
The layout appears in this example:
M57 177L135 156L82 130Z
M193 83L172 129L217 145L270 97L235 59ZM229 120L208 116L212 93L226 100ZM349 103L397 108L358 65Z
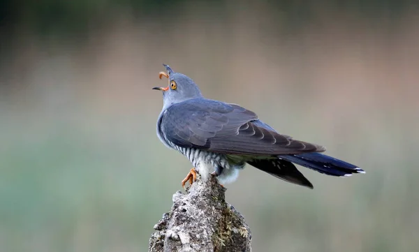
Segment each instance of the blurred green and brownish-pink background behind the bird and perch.
M162 63L366 175L247 167L253 251L419 247L415 1L0 1L0 251L147 251L191 165L156 137Z

